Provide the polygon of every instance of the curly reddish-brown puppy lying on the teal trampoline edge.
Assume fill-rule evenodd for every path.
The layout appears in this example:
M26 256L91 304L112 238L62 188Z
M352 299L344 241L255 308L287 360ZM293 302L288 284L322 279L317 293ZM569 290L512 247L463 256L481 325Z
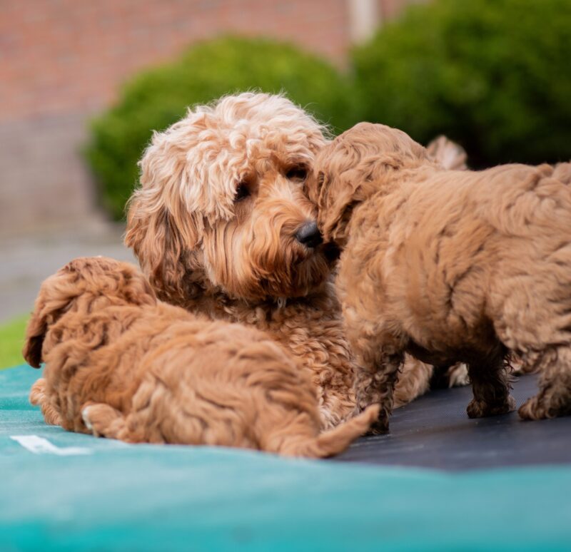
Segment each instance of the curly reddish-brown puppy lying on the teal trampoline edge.
M24 357L48 423L139 443L241 446L287 456L343 451L378 407L319 433L305 369L263 332L156 300L133 266L79 258L42 285Z

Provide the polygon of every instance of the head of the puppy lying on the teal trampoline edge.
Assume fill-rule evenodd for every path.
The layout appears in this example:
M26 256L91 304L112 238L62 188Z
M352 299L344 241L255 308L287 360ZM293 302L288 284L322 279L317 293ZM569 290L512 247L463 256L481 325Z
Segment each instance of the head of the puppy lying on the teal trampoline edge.
M22 354L38 368L49 328L66 312L89 314L108 305L153 305L151 286L133 265L106 257L79 257L41 284L26 328Z

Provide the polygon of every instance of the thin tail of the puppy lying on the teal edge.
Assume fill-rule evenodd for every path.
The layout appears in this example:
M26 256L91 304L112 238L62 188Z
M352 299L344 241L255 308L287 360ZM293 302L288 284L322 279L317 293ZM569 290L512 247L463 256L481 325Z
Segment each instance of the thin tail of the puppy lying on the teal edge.
M284 456L305 456L325 458L343 452L352 441L365 434L379 415L379 405L373 404L354 418L334 429L329 429L313 438L292 438L283 441L279 454Z

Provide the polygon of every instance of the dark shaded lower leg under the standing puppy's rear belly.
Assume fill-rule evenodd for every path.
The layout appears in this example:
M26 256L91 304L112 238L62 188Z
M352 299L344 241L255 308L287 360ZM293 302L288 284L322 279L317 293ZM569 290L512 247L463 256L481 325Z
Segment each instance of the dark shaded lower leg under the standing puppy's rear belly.
M468 404L468 416L481 418L506 414L515 409L510 396L510 378L504 362L505 349L497 347L495 354L473 359L468 363L474 398Z

